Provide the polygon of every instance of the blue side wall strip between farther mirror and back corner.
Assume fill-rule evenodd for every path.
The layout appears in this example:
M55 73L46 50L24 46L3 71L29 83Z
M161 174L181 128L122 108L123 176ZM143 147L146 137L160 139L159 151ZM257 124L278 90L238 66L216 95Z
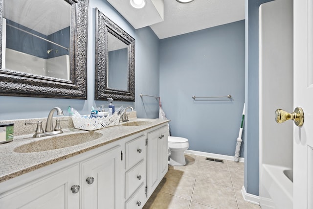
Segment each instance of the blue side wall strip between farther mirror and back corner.
M150 27L136 30L135 107L137 117L157 118L158 101L139 94L159 95L159 39Z

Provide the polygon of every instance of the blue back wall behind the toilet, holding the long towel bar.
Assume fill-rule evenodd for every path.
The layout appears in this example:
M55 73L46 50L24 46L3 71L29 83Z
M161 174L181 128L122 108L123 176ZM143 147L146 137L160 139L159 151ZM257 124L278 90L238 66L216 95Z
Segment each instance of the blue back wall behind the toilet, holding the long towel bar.
M192 99L227 94L232 99ZM172 135L187 138L190 150L234 156L245 100L245 21L160 40L160 96Z

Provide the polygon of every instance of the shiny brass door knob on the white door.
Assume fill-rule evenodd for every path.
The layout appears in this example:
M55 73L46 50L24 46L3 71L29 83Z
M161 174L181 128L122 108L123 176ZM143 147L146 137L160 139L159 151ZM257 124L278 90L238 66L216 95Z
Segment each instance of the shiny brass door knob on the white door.
M302 126L304 122L304 113L302 108L295 108L293 113L288 113L282 109L277 109L275 111L275 120L277 123L283 123L290 119L294 121L296 126Z

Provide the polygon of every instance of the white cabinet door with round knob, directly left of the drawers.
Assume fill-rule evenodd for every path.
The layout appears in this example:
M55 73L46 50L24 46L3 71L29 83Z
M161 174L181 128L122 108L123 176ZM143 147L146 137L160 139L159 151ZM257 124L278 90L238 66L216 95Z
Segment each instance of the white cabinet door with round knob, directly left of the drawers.
M121 166L120 145L81 163L83 209L121 208Z

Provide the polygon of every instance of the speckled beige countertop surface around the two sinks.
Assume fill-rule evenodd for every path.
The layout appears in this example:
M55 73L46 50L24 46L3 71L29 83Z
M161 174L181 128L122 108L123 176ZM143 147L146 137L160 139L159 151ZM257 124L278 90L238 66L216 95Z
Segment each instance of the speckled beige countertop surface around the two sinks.
M139 118L138 118L139 119ZM96 130L103 134L98 139L91 140L86 143L78 144L61 149L47 150L42 152L17 153L14 149L33 141L48 139L50 137L32 138L32 134L14 137L14 140L8 143L0 144L0 183L20 176L24 173L36 170L46 165L65 160L69 157L87 152L91 149L103 146L113 141L132 136L147 129L164 124L170 120L149 119L152 123L140 126L112 126ZM87 133L88 131L67 128L63 130L63 134L69 135L73 133Z

